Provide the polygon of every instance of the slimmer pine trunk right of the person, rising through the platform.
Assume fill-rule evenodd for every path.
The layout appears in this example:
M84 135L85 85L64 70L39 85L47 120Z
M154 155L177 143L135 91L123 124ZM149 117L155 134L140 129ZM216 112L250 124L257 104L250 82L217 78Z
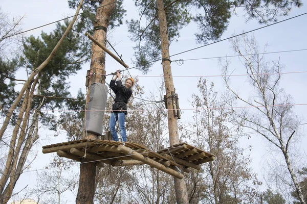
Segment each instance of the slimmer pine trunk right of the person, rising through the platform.
M167 23L166 23L166 15L164 10L163 0L157 0L157 9L158 9L158 19L160 25L162 58L170 59ZM172 98L169 97L171 95L171 92L174 92L170 61L164 60L162 66L164 74L165 91L167 97L169 143L170 145L173 145L179 143L179 135L178 135L177 117L175 117L173 114L172 109L174 108L173 108ZM181 171L183 172L183 168L181 168ZM174 185L175 185L177 203L179 204L188 203L188 193L187 193L187 186L185 180L184 179L180 180L174 177Z

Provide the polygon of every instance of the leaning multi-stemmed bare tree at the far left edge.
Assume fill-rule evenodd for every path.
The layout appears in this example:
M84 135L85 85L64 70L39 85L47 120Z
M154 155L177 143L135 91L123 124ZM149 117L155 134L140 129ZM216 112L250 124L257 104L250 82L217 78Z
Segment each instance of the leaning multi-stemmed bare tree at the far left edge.
M38 118L40 105L36 107L36 110L30 111L32 107L33 95L36 91L36 86L39 83L39 74L50 62L55 55L60 44L63 42L68 32L71 30L83 1L76 11L76 16L68 25L67 30L64 32L61 39L58 41L49 57L37 68L34 68L31 74L28 76L28 80L24 80L25 84L18 93L16 99L12 103L8 111L4 111L1 108L2 113L5 115L4 123L0 129L0 143L7 148L5 165L1 167L0 178L0 203L6 203L10 199L17 180L25 168L28 154L33 146L33 143L38 139ZM15 27L12 27L13 29ZM5 33L5 35L8 35ZM16 117L13 117L13 113ZM14 124L14 129L10 132L8 129L9 124ZM5 135L10 137L4 138Z

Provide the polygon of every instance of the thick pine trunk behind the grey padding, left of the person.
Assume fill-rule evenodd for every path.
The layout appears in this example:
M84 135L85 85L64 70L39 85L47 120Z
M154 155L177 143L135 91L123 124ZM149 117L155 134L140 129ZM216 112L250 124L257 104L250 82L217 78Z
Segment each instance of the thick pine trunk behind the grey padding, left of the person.
M107 5L105 7L101 7ZM115 9L115 0L104 0L100 8L97 9L96 18L94 21L94 27L103 26L108 27L109 19L111 14ZM106 32L103 30L96 30L93 36L98 42L105 46L106 42ZM99 82L105 83L104 78L99 74L104 74L104 62L105 62L105 52L95 43L92 44L93 54L91 57L91 68L92 78L89 81L89 87L92 83ZM90 89L87 91L86 104L90 101ZM97 135L87 133L83 135L86 139L98 139ZM82 160L84 161L84 160ZM76 198L76 203L94 203L95 194L95 179L96 179L96 162L81 163L80 164L80 179L79 179L79 189Z

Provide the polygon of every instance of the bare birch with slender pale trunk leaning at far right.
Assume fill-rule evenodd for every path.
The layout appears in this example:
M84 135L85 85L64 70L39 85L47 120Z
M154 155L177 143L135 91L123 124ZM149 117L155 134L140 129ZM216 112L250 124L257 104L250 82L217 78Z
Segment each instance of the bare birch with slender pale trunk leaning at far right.
M258 54L254 37L250 39L246 35L243 38L237 37L231 40L231 43L235 52L240 55L239 59L248 74L251 95L245 97L230 86L228 62L223 65L226 87L240 102L253 107L237 112L232 118L243 127L256 131L279 150L287 165L292 186L300 203L305 203L293 161L290 158L291 144L297 137L299 119L292 111L291 95L286 94L279 87L282 66L279 60L270 63Z

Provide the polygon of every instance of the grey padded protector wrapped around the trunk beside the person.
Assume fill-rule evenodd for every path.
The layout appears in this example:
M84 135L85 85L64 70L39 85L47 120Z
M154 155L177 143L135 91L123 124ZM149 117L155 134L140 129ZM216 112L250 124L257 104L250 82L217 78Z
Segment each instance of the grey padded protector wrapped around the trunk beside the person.
M90 101L86 112L86 131L102 134L103 116L107 99L107 86L100 83L91 85Z

